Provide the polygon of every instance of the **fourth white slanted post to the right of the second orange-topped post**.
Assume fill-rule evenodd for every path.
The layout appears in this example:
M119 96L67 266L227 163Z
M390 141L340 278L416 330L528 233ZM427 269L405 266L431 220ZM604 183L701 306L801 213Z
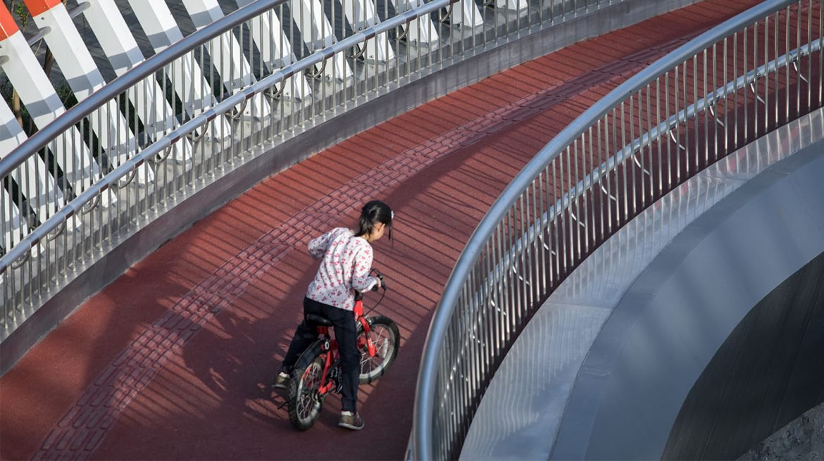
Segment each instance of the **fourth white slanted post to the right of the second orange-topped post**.
M236 0L237 7L241 8L254 1ZM260 16L259 20L251 21L251 35L270 72L285 68L297 60L292 52L292 44L283 31L280 19L274 11L270 10L265 15ZM303 74L289 77L286 81L283 81L282 85L283 97L294 97L295 100L302 100L311 95L311 86L309 86Z

